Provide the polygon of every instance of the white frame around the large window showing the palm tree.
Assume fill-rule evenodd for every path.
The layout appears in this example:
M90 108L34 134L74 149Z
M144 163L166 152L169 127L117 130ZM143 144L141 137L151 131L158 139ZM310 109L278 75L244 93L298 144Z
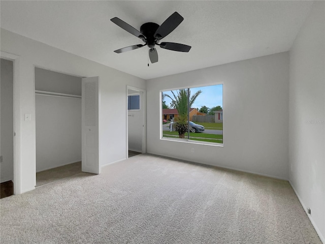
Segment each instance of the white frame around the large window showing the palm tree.
M209 146L217 146L217 147L223 147L224 146L224 119L222 119L222 143L217 142L208 142L208 141L196 141L191 140L188 138L170 138L170 137L164 137L163 134L163 93L164 92L170 92L171 90L179 90L179 89L187 89L187 88L199 88L199 87L205 87L205 86L212 86L212 85L222 85L222 117L224 118L224 83L223 82L213 82L208 84L200 84L200 85L190 85L190 86L183 86L183 87L177 87L177 88L169 88L169 89L161 89L159 90L159 118L160 118L160 140L164 141L174 141L174 142L183 142L183 143L190 143L190 144L200 144L200 145L209 145Z

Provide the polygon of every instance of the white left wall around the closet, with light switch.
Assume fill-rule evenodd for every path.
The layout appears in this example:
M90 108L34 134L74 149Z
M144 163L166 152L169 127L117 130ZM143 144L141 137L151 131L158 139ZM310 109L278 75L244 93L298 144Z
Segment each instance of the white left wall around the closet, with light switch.
M18 135L21 139L21 192L32 190L36 185L34 66L83 77L100 76L101 165L126 158L126 85L145 89L145 80L5 29L1 29L1 51L20 56L17 79L20 81L21 114L17 119L21 121ZM30 121L22 119L25 113L31 114Z

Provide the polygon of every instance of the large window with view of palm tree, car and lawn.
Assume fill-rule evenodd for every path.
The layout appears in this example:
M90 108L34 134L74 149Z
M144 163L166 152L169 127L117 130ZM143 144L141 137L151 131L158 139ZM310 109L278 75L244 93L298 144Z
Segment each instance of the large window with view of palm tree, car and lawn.
M222 86L162 91L163 138L223 144Z

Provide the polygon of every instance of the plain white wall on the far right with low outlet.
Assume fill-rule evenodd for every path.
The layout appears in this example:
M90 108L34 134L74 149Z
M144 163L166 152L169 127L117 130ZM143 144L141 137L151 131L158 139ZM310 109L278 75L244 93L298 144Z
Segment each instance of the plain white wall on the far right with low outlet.
M290 50L289 178L325 243L324 2L314 3Z

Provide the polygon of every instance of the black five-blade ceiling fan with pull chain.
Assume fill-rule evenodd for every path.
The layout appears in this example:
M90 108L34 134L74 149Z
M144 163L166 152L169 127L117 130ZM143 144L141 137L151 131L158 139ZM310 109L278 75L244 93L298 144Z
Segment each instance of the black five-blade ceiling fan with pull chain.
M191 49L191 46L187 46L180 43L174 42L160 42L161 39L169 35L174 29L184 20L184 18L177 12L173 13L169 16L164 23L160 26L156 23L148 22L144 23L140 27L140 32L129 25L128 23L124 22L123 20L114 17L111 21L118 26L120 26L125 31L131 33L132 35L140 38L145 44L138 44L128 47L123 47L120 49L115 50L116 53L122 53L126 51L131 51L137 48L141 48L144 46L148 46L149 48L149 58L151 63L158 62L158 53L155 48L155 45L160 46L161 48L178 51L178 52L188 52ZM149 66L149 64L148 64Z

